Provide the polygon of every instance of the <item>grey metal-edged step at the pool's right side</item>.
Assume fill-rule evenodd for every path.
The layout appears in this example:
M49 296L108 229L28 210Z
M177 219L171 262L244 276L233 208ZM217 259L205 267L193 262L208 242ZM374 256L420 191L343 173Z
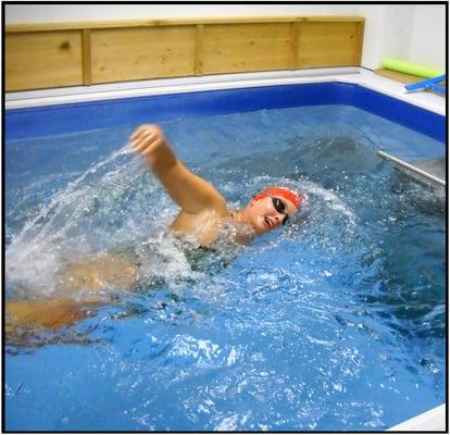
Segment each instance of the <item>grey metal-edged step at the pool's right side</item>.
M378 151L378 156L391 161L396 167L418 182L434 188L445 188L447 159L445 157L432 160L422 160L418 162L408 163L385 151Z

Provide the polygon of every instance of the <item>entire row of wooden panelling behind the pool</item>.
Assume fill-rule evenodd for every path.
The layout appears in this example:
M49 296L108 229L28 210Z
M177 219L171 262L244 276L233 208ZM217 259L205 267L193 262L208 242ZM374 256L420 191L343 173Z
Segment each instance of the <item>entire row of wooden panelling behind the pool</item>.
M364 18L274 16L10 25L7 91L361 64Z

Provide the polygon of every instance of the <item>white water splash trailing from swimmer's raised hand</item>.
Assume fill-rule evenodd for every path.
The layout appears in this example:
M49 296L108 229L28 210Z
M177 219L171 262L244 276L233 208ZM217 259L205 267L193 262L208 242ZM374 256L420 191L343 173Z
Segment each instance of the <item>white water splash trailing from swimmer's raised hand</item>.
M127 144L95 163L52 196L12 238L5 251L7 278L25 293L22 296L49 296L70 259L80 260L98 248L92 238L96 224L108 214L117 217L126 194L138 191L148 173L138 159L132 160L128 154ZM154 184L148 183L148 188L152 187Z

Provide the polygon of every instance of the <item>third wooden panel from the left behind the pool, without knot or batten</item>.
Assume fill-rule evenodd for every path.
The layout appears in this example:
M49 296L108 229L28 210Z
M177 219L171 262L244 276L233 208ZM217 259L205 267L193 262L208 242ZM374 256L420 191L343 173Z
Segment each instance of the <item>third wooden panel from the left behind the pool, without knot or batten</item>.
M290 67L290 24L204 26L203 74Z

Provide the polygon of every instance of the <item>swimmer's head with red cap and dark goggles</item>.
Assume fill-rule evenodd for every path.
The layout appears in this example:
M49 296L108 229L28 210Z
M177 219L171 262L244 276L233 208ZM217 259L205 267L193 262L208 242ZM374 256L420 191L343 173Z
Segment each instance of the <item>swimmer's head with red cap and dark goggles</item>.
M252 198L243 214L254 232L263 234L284 225L296 214L301 202L301 195L285 187L270 186Z

